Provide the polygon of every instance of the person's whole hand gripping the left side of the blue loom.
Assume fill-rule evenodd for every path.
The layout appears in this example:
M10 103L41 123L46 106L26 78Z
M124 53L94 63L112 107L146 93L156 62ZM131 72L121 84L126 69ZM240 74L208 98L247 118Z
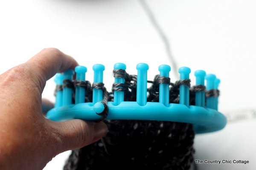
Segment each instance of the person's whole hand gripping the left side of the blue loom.
M46 81L77 65L58 49L46 48L0 75L1 170L42 170L59 153L106 135L108 128L103 122L53 122L44 117L53 107L41 99Z

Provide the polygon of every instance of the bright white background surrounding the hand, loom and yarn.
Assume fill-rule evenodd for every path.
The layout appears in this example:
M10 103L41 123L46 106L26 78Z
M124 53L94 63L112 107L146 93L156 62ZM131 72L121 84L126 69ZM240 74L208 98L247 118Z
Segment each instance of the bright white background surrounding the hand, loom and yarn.
M171 43L178 67L202 69L221 79L219 111L255 109L256 1L147 0ZM26 62L43 48L55 47L88 68L105 65L104 82L113 83L116 62L136 74L136 65L149 65L148 79L158 66L172 63L159 34L138 0L12 0L0 2L0 74ZM173 71L171 81L177 78ZM195 83L191 74L192 84ZM54 102L53 80L43 97ZM203 169L256 167L255 119L230 123L224 130L197 135L195 158L241 159L244 164L199 165ZM61 170L70 151L56 156L44 170Z

